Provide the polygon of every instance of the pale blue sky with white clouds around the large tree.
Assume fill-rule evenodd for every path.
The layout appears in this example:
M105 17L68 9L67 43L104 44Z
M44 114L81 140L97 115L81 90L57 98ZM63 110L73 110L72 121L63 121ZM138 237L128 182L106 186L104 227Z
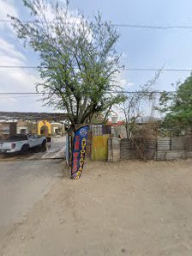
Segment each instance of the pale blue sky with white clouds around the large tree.
M63 1L60 1L63 4ZM92 19L99 10L104 19L114 24L151 26L192 26L191 0L71 0L70 10ZM0 0L0 65L38 65L38 55L24 48L18 40L7 14L26 20L27 9L22 0ZM126 68L191 69L192 29L155 30L117 27L121 34L117 51L123 53ZM166 72L154 85L156 90L172 90L172 83L183 82L189 72ZM134 91L155 76L154 71L123 70L118 80L124 89ZM39 74L33 69L0 67L0 93L35 92ZM39 98L39 97L38 97ZM53 112L42 107L37 96L0 95L0 111Z

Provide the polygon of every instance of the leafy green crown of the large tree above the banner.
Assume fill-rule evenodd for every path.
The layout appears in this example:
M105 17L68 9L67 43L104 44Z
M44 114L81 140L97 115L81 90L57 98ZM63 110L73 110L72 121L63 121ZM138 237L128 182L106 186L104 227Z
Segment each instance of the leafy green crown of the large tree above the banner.
M22 1L33 22L9 17L24 46L39 53L43 82L37 90L44 104L66 111L75 126L122 101L111 93L117 88L121 57L115 48L119 34L111 22L100 14L93 21L71 15L68 1L65 8L45 0Z

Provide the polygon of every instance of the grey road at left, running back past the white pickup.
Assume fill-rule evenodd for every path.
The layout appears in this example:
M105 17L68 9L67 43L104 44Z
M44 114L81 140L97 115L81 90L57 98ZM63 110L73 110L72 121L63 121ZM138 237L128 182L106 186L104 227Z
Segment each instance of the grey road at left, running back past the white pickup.
M20 221L63 175L61 161L53 159L64 157L65 137L53 138L47 144L46 151L37 147L26 155L1 155L0 229Z

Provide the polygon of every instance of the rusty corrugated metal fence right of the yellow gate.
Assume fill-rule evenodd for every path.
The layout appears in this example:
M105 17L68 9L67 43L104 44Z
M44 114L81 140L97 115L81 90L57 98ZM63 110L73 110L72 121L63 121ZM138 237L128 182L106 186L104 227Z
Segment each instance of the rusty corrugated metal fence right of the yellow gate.
M192 158L192 137L158 137L141 144L134 143L128 138L108 140L108 161L134 159L165 161L186 158Z

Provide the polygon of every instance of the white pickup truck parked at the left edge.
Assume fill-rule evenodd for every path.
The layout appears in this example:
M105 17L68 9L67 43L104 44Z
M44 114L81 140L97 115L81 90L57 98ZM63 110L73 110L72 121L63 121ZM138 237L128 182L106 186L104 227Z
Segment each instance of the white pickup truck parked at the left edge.
M4 141L0 141L0 153L9 154L15 152L21 152L24 154L27 152L27 149L33 148L36 146L46 146L46 137L40 137L39 135L22 135L18 134L11 136Z

